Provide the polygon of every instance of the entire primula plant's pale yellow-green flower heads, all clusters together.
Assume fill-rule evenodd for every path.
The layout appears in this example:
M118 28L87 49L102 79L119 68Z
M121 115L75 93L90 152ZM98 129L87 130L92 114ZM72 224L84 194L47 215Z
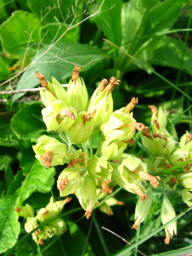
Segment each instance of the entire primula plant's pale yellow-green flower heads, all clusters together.
M155 106L149 106L152 110L152 130L149 130L133 117L134 106L138 104L135 97L127 106L113 111L112 91L120 83L115 77L111 77L109 82L104 78L89 100L83 78L79 76L80 70L79 66L74 68L67 92L55 78L52 78L50 83L43 74L36 72L34 75L44 87L44 91L40 88L40 95L45 105L42 116L47 131L55 131L62 142L43 135L33 149L35 157L46 168L67 163L67 167L59 174L57 180L60 197L74 194L85 210L87 219L98 203L102 212L111 215L112 206L123 204L110 197L110 186L119 185L128 192L140 196L133 225L136 230L138 224L143 222L150 212L153 189L157 188L161 179L167 191L176 191L179 184L181 189L176 192L190 205L190 165L186 166L183 173L164 174L169 167L191 157L190 134L187 132L182 136L179 147L175 150L176 140L166 128L166 111L161 107L157 110ZM134 145L133 136L136 130L141 132L143 146L150 153L148 158L138 158L125 152L128 144ZM92 138L98 134L100 137L98 139L97 136L98 146L95 150L92 148ZM103 203L102 199L105 200ZM168 218L166 205L171 209ZM45 210L39 210L36 216L32 216L32 210L30 211L26 223L27 232L31 231L32 226L35 227L50 216L55 216L54 213L50 213L48 217L43 215L43 212L49 209L52 209L52 206L48 205ZM61 210L59 207L58 209ZM24 215L26 218L24 213L21 216ZM161 208L162 222L165 223L174 216L174 208L168 197L164 196ZM34 233L33 239L40 243L53 234L59 234L65 226L64 223L50 225L45 226L41 233ZM165 229L166 243L174 233L176 234L176 223L173 225Z

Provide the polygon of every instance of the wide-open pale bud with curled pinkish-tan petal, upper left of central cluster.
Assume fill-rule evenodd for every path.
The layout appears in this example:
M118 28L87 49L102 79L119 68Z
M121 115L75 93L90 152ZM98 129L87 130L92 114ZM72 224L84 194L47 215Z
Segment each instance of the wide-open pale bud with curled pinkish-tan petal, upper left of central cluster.
M56 101L42 109L43 121L47 126L47 131L64 131L75 122L76 110L67 107L63 101Z

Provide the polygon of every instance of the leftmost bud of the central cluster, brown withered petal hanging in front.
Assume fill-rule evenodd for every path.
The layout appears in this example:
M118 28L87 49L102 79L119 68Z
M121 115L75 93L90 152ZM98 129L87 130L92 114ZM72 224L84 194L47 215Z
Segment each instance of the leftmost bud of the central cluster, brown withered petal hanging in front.
M38 138L38 143L33 146L35 157L40 164L50 168L55 165L63 165L67 145L55 138L43 135Z

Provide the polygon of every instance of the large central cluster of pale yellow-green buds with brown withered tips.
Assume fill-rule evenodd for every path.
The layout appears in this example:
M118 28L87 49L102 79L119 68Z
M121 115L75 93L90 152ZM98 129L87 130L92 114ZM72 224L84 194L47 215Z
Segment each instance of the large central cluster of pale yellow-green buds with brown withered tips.
M35 73L44 87L44 91L40 88L45 105L42 109L43 121L47 131L56 131L60 138L57 140L44 135L33 149L36 158L46 168L68 164L58 176L60 196L75 194L89 219L97 204L108 215L113 214L111 206L123 204L110 196L112 180L125 190L139 195L142 203L147 199L144 184L149 181L152 187L157 188L160 177L149 174L147 164L141 159L124 153L128 144L134 145L136 130L149 133L144 124L133 118L132 110L138 104L138 99L133 97L127 106L113 111L112 91L120 80L111 77L109 82L107 79L101 81L89 100L85 83L79 77L80 70L79 66L74 68L67 91L55 78L50 83L43 74ZM152 141L162 144L157 154L161 155L164 147L173 139L162 126L164 122L161 122L161 116L164 117L164 114L159 112L158 115L160 117L154 117L157 121L153 125L153 132L157 136ZM161 129L157 129L158 124L162 126ZM164 137L161 138L160 134ZM149 136L146 139L150 139ZM98 142L96 152L92 148L93 140ZM102 199L105 199L105 203L101 202ZM151 200L145 201L151 204ZM37 216L35 218L39 221Z

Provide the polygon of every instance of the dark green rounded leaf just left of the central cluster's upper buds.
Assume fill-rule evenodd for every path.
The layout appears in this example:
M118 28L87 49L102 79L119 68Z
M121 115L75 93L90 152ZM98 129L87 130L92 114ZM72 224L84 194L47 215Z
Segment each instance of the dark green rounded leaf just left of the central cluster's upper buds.
M24 104L11 119L11 128L19 139L37 138L45 131L41 118L41 102Z

